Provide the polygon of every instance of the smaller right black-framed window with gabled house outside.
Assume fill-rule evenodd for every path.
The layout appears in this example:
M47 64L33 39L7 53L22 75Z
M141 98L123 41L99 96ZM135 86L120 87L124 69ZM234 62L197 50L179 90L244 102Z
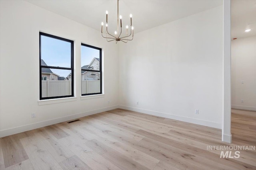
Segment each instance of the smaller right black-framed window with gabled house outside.
M102 94L101 49L81 44L82 96Z

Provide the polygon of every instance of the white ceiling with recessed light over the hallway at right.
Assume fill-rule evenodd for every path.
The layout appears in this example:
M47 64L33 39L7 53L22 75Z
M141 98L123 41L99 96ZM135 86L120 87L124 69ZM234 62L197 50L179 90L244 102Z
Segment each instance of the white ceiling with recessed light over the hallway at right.
M245 32L251 29L250 32ZM256 35L256 0L231 1L231 38Z

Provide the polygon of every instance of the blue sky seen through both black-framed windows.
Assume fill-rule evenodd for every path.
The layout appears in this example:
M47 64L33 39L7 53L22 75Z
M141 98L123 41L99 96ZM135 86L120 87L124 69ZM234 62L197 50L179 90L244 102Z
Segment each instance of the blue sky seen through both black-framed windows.
M41 59L48 66L70 67L71 43L41 35ZM81 46L81 67L91 63L94 57L99 58L100 51L90 47ZM74 60L75 60L74 56ZM52 72L66 77L71 70L52 69Z

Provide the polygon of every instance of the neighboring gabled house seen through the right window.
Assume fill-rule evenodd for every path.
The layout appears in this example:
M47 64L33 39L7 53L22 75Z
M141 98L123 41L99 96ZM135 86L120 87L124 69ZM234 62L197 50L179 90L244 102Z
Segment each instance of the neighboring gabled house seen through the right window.
M91 63L86 66L82 66L82 69L88 70L100 70L100 59L93 58ZM100 80L99 72L88 72L81 70L82 80Z

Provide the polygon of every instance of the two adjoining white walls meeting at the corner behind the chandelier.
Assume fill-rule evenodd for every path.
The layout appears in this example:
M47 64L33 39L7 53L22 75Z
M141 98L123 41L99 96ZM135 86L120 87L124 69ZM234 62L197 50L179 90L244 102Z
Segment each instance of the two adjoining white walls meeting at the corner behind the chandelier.
M102 39L99 31L28 2L0 3L0 137L119 104L221 128L222 6L136 33L132 42L119 43L118 48ZM76 98L38 103L39 31L75 41ZM103 49L102 98L80 98L81 42ZM17 72L22 76L10 76ZM195 109L199 109L198 115ZM36 113L36 118L31 118L31 113Z

